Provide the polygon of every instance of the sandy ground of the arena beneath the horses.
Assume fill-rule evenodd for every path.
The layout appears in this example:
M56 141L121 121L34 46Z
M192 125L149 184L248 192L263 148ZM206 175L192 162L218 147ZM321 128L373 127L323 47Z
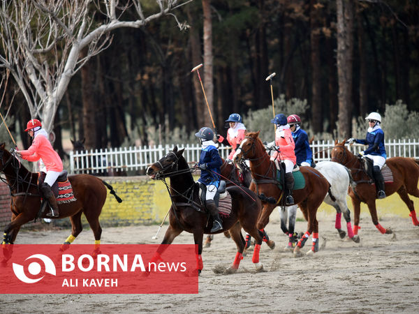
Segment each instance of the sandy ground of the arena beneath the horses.
M267 232L276 241L274 250L263 244L260 261L266 272L255 273L251 255L244 257L236 274L215 274L228 267L235 244L222 234L203 252L204 269L198 294L3 294L2 313L418 313L419 227L408 218L383 217L381 224L394 234L381 235L369 216L362 216L361 242L340 239L334 217L319 217L321 244L314 256L295 258L285 253L286 237L279 227L277 211ZM159 226L105 228L103 244L155 244ZM48 230L50 229L50 230ZM70 230L22 231L17 244L60 244ZM306 223L297 221L296 231ZM84 229L75 243L91 244L91 230ZM177 244L191 244L182 233ZM303 251L309 250L311 239Z

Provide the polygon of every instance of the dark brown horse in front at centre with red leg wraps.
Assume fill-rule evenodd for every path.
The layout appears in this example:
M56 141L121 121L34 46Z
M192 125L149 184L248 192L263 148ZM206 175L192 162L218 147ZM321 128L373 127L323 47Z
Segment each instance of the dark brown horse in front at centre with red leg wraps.
M193 181L191 169L189 169L188 163L182 156L183 152L184 149L178 151L175 147L166 156L149 166L146 171L151 179L162 179L164 181L167 177L170 178L168 191L172 205L169 209L169 227L156 254L160 256L167 247L164 244L171 244L182 231L192 233L193 240L198 246L196 262L198 274L200 274L203 269L201 257L203 234L210 234L212 218L209 218L205 206L201 205L198 195L199 184ZM166 181L164 183L166 184ZM228 230L237 246L233 265L226 269L226 273L231 274L237 271L240 260L243 258L245 242L241 232L242 227L256 239L257 244L253 251L252 262L256 271L263 271L263 264L259 262L260 244L262 244L263 236L256 228L262 204L258 197L244 186L229 186L226 190L231 197L231 212L228 216L220 214L224 229L215 232L221 233Z

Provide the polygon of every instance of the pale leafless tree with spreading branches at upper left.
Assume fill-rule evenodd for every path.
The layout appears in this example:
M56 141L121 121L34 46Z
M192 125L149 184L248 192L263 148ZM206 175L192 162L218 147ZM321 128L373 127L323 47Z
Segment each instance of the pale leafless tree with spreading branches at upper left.
M49 132L71 77L110 45L112 31L143 27L190 1L2 1L0 68L10 70L31 117L40 117ZM138 20L125 20L130 6Z

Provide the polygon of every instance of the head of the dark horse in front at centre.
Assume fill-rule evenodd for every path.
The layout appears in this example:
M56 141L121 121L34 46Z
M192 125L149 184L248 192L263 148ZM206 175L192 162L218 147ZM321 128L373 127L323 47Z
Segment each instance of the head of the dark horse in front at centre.
M170 177L172 174L175 174L178 170L179 160L183 160L186 164L186 160L183 158L182 154L185 149L177 150L177 146L170 151L166 156L160 158L156 163L153 163L147 168L147 176L151 179L163 179ZM184 167L184 165L182 165ZM189 167L188 167L189 168Z

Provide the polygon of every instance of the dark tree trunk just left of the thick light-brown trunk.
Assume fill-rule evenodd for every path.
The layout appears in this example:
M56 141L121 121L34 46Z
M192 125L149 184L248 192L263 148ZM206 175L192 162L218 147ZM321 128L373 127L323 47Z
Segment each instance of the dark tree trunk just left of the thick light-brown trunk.
M320 60L320 36L321 27L318 18L321 17L321 8L314 4L317 0L310 1L310 42L311 42L311 126L314 133L323 131L323 112L321 104L321 60Z

